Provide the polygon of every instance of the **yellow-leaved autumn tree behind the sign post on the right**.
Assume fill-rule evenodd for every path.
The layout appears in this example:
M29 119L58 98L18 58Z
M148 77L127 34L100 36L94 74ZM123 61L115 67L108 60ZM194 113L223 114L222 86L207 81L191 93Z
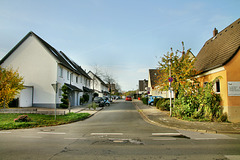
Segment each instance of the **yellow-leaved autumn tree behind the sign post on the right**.
M197 75L197 71L194 67L195 59L194 57L190 57L190 49L185 52L184 43L182 42L183 50L177 50L175 53L171 48L171 53L167 53L162 58L159 63L159 77L157 78L157 84L161 91L169 89L169 70L171 68L171 77L173 78L173 82L171 83L171 87L173 91L178 95L179 90L181 88L186 88L189 85L195 85L197 79L195 75Z

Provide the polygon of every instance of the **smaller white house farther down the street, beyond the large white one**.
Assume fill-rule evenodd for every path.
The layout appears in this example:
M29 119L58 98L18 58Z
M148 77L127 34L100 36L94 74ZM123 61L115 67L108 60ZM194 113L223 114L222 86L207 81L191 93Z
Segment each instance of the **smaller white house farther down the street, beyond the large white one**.
M99 97L103 97L103 96L109 94L108 86L103 82L103 80L101 78L99 78L97 75L95 75L91 71L88 72L88 75L92 79L90 87L91 87L91 89L94 90L95 93L98 93Z

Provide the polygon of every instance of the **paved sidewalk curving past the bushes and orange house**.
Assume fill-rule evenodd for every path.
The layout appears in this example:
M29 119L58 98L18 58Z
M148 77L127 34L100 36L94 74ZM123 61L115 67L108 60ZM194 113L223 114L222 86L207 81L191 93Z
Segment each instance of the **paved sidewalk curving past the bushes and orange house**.
M170 117L168 111L160 111L156 107L143 104L140 100L133 100L133 103L141 116L155 125L195 132L240 134L240 123L184 121Z

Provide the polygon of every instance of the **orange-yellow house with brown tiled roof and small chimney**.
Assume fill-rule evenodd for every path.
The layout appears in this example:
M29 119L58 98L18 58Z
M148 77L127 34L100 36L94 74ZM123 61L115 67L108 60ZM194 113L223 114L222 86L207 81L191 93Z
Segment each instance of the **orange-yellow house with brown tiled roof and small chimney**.
M200 84L204 86L221 76L214 90L222 98L228 120L240 122L240 18L219 33L215 28L196 59Z

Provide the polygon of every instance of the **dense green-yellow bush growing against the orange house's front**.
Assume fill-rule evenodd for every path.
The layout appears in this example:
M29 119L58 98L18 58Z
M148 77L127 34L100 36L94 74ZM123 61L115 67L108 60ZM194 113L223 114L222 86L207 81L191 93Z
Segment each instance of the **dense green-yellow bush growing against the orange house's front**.
M223 114L220 106L220 95L213 91L213 84L218 78L204 88L196 87L197 90L182 88L175 102L174 116L183 119L191 117L207 121L227 121L227 116Z

